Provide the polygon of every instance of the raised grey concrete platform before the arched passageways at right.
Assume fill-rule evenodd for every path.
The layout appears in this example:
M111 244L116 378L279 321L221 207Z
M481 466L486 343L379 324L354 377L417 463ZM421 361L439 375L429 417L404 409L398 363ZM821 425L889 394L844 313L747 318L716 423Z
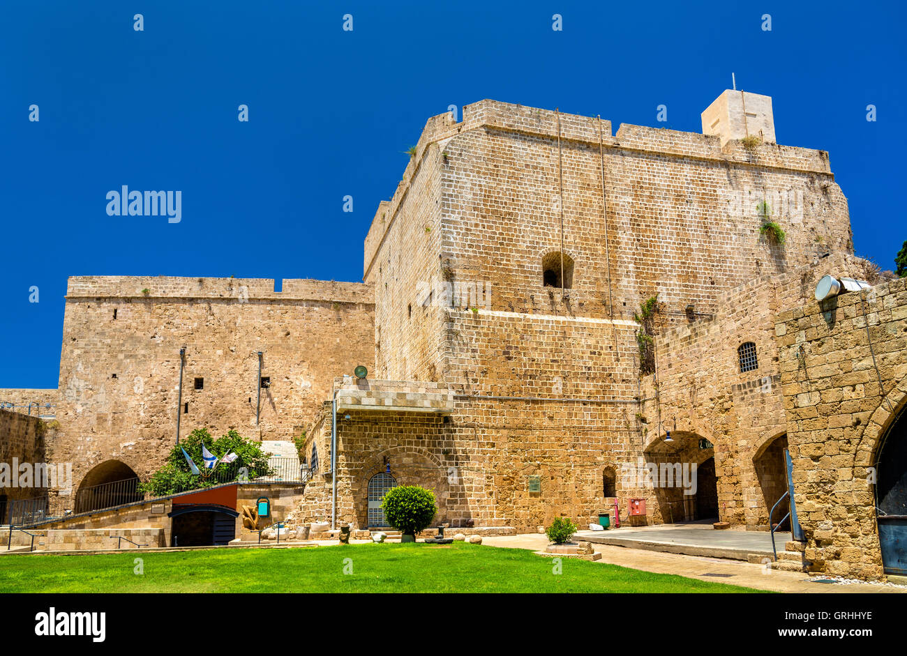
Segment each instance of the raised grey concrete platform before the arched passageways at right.
M628 546L669 554L704 555L746 560L748 555L772 555L768 531L716 531L711 524L667 524L618 528L608 531L578 531L574 539L600 545ZM775 547L785 550L791 534L775 532Z

